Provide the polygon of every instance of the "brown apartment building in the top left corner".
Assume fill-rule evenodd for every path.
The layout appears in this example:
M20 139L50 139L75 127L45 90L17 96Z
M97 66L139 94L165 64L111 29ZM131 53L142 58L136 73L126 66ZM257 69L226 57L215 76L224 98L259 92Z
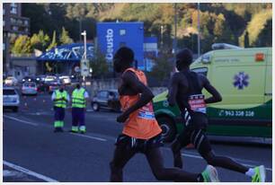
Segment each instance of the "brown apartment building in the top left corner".
M3 71L13 75L11 62L11 42L20 35L30 34L30 19L22 17L22 4L3 4Z

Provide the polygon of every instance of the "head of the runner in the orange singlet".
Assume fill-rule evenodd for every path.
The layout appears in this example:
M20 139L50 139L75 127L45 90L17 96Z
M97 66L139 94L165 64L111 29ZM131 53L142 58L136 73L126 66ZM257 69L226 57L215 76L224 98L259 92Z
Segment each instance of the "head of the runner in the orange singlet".
M114 70L117 73L123 72L125 69L132 66L134 60L134 52L131 48L121 47L117 50L113 57Z

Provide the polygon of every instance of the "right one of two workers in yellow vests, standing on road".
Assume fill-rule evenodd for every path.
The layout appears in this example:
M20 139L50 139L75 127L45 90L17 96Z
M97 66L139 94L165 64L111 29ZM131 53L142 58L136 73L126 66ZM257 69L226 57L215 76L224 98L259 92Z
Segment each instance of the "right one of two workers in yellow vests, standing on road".
M84 134L86 132L85 127L85 108L86 101L89 98L89 94L81 87L80 84L76 84L76 88L72 93L72 129L71 132L80 132Z

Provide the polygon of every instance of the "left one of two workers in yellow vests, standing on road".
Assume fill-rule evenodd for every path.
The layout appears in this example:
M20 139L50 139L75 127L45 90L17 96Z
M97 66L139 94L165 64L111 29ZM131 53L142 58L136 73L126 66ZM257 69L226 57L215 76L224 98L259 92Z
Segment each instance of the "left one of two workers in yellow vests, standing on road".
M63 132L65 109L67 107L67 102L70 101L69 94L64 88L65 86L60 84L58 90L54 91L51 95L55 111L54 132Z

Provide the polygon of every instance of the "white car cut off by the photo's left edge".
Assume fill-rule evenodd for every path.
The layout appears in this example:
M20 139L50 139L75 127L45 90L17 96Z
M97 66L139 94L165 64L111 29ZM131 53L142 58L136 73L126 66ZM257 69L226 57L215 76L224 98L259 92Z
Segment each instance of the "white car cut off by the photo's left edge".
M3 88L3 108L18 111L20 99L18 93L13 87Z

